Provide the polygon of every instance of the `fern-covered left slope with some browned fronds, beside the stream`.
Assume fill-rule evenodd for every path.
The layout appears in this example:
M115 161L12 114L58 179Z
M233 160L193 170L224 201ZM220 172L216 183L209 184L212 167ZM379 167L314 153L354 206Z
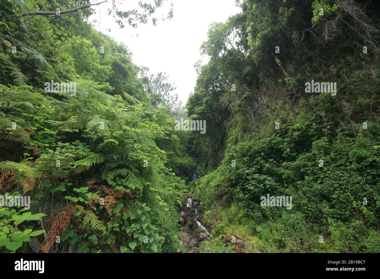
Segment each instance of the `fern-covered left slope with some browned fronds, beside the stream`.
M7 0L0 13L51 3ZM128 49L86 16L0 22L0 194L31 197L30 209L0 207L0 251L30 252L33 238L38 252L175 252L183 181L155 143L173 128L151 120L164 116Z

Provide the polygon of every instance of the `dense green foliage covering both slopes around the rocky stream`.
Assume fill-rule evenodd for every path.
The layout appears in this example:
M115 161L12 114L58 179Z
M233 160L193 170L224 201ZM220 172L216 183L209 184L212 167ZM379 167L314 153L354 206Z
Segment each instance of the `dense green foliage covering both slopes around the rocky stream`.
M177 205L195 192L214 236L200 251L234 252L236 236L246 252L380 252L376 1L237 1L186 104L205 134L174 129L186 116L166 74L97 32L92 9L2 17L75 3L0 3L0 194L31 197L0 207L0 251L184 251ZM156 6L118 16L135 26Z

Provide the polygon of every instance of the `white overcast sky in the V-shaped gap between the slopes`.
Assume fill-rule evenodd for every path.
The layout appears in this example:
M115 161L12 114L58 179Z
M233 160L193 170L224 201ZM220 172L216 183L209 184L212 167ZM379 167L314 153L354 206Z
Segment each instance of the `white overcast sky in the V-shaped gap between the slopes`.
M125 10L128 10L128 7L138 7L138 2L126 1ZM111 7L108 3L95 8L97 14L92 16L91 21L100 21L100 25L97 23L94 26L97 30L110 35L117 42L123 42L133 52L133 62L136 65L147 66L150 74L161 71L168 74L169 82L177 87L175 93L178 93L182 104L185 105L188 95L194 91L197 78L194 64L201 58L199 47L207 39L209 24L214 21L225 22L229 16L239 13L241 9L235 6L235 0L169 2L174 4L174 17L172 20L160 22L157 26L153 26L149 21L146 25L139 24L136 29L131 28L128 23L125 24L125 28L120 29L112 16L108 16L106 12ZM118 7L122 9L122 5ZM167 11L168 4L158 9L154 17L161 18ZM109 28L111 32L108 31Z

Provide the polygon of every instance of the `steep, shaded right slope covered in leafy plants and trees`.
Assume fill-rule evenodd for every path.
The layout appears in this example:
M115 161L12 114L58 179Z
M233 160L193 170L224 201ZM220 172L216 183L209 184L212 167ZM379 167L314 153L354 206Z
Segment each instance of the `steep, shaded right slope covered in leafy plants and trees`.
M250 252L380 252L379 3L240 3L211 26L187 103L207 123L191 140L211 234Z

